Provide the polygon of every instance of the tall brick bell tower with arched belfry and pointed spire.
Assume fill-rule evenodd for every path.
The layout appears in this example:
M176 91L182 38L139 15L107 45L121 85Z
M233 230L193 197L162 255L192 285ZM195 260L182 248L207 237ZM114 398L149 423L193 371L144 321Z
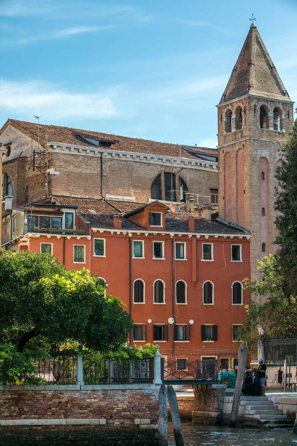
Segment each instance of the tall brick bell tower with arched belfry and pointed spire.
M217 107L219 217L251 231L256 278L256 259L275 250L274 172L293 128L293 101L254 23Z

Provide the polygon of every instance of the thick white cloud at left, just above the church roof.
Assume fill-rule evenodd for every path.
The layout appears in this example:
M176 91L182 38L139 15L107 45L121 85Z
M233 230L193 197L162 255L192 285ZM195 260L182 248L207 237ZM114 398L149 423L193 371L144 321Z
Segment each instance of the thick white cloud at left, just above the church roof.
M9 82L0 79L2 113L22 116L42 116L43 120L83 116L103 119L117 114L111 99L112 91L78 94L63 91L61 87L43 82Z

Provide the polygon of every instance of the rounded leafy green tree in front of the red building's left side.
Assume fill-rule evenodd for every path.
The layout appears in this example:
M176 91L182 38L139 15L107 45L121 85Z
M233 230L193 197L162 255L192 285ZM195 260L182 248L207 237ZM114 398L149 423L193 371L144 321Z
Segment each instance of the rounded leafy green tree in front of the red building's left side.
M55 257L0 250L0 342L23 351L30 339L49 346L75 340L95 351L126 342L130 315L85 268L65 271Z

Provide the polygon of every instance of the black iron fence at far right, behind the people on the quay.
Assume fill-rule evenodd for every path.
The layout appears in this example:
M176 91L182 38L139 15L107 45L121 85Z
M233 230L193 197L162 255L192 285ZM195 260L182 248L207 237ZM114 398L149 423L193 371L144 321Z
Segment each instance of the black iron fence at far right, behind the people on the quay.
M297 366L297 335L264 339L264 352L267 366L283 366L288 355L292 356L291 365Z

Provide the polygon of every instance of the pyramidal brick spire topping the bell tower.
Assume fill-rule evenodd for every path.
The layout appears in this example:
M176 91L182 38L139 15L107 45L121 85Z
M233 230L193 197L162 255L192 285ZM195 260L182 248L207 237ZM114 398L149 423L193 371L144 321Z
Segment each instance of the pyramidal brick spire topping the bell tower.
M253 23L220 104L247 94L290 100L257 27Z

